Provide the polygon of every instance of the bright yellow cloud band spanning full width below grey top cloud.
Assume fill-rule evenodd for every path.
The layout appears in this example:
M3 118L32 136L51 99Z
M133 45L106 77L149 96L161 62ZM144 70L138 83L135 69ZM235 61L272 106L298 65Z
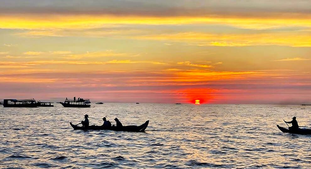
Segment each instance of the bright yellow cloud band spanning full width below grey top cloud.
M266 29L281 26L311 27L308 17L297 18L243 18L243 17L147 17L114 15L3 15L0 28L9 29L85 29L122 24L176 25L176 24L226 24L240 28ZM104 25L104 26L103 26ZM42 35L45 33L42 32ZM51 34L51 33L48 33Z

